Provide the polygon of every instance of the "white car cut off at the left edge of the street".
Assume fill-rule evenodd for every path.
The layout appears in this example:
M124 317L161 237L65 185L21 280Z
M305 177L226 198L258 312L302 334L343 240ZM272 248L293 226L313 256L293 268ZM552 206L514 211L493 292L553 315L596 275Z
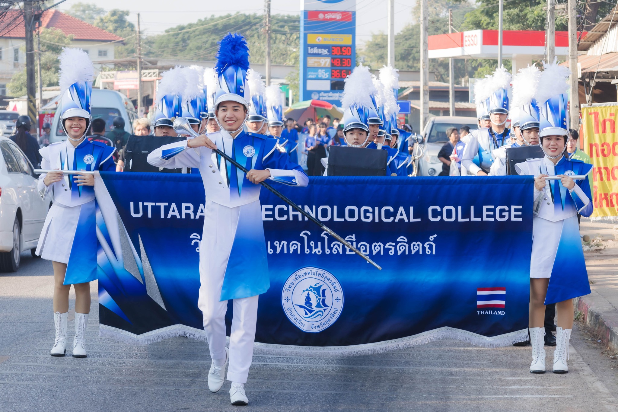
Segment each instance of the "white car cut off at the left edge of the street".
M0 137L0 153L0 272L15 272L23 250L35 256L52 200L41 198L32 164L11 139Z

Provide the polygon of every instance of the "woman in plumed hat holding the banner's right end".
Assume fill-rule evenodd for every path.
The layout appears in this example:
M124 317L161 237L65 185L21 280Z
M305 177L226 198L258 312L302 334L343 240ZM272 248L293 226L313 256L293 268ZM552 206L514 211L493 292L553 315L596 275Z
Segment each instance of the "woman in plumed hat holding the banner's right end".
M569 114L567 78L569 69L546 64L536 94L540 104L540 140L545 154L515 165L520 175L535 175L532 256L530 263L530 372L545 372L545 305L556 303L558 313L554 373L567 373L569 338L573 327L572 299L590 293L583 257L577 213L588 217L593 212L591 188L587 178L591 164L569 159L566 153ZM548 176L560 180L547 180Z

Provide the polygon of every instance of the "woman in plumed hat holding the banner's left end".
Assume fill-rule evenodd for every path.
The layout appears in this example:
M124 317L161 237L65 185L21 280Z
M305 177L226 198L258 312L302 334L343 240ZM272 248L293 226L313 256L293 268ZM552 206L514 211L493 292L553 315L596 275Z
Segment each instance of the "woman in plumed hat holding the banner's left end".
M82 49L63 48L60 60L60 116L67 140L40 149L43 169L116 170L116 148L85 138L91 123L90 95L94 68ZM53 191L36 246L36 254L54 267L54 326L56 339L51 356L64 356L67 345L69 291L75 290L75 337L73 357L85 358L84 334L90 313L90 282L97 279L95 177L91 174L49 172L38 178L44 195Z

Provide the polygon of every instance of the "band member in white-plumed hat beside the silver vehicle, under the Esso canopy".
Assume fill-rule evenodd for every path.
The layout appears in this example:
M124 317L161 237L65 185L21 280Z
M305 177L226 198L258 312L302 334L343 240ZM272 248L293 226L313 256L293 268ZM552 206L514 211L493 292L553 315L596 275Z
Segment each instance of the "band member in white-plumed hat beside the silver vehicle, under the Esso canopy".
M472 138L465 145L462 166L474 175L487 175L494 163L493 150L509 141L510 131L504 126L507 116L509 116L509 96L507 93L509 87L510 73L504 67L499 67L493 76L488 76L475 85L477 108L482 107L483 104L486 105L491 118L491 127L470 132ZM478 166L473 162L477 156Z

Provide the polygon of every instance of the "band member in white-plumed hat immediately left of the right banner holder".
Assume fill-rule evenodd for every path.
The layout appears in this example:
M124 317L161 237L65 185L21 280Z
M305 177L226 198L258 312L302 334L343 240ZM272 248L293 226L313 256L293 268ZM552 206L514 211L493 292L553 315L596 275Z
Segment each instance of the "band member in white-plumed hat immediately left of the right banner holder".
M539 113L534 98L541 78L536 65L520 69L513 76L513 101L510 111L512 136L509 143L493 150L490 176L506 175L506 149L538 145Z

